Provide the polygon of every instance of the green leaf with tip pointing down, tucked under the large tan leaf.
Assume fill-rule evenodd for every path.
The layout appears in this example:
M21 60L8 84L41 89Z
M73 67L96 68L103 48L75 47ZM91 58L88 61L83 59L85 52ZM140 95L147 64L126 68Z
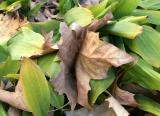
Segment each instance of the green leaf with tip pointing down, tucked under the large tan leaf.
M91 104L94 104L98 98L98 96L103 93L114 81L115 74L113 70L108 71L108 77L107 79L102 80L91 80L90 86L90 102Z

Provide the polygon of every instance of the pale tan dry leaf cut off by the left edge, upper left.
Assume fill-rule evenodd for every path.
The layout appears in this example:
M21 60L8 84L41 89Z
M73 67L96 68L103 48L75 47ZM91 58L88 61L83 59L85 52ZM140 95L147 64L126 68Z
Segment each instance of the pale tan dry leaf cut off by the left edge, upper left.
M18 16L12 17L11 15L4 16L0 14L0 40L9 39L18 31L23 23L25 22L21 21Z

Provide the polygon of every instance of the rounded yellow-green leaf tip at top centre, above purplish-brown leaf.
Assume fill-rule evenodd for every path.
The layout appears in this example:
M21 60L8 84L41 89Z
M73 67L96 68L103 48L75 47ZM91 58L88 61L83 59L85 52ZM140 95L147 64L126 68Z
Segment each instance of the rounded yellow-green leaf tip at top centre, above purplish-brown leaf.
M68 25L75 22L82 27L90 24L92 22L92 19L93 19L92 12L87 8L83 7L72 8L64 16L64 20Z

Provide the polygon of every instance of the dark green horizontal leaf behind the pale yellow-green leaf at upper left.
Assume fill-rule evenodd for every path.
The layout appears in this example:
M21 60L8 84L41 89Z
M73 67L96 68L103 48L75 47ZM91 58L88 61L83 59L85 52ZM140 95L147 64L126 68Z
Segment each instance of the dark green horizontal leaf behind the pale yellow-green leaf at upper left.
M50 31L53 31L54 34L59 31L59 21L56 20L48 20L45 22L30 22L25 27L28 27L32 29L33 31L37 33L42 33L43 31L49 33Z

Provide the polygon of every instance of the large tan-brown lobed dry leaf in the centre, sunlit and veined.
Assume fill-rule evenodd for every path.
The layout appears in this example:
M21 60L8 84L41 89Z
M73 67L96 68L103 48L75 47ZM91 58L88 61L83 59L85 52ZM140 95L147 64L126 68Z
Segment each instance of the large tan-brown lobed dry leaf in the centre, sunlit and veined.
M106 78L111 66L119 67L133 60L134 58L126 52L101 41L98 33L88 32L76 62L78 103L90 109L89 81Z

